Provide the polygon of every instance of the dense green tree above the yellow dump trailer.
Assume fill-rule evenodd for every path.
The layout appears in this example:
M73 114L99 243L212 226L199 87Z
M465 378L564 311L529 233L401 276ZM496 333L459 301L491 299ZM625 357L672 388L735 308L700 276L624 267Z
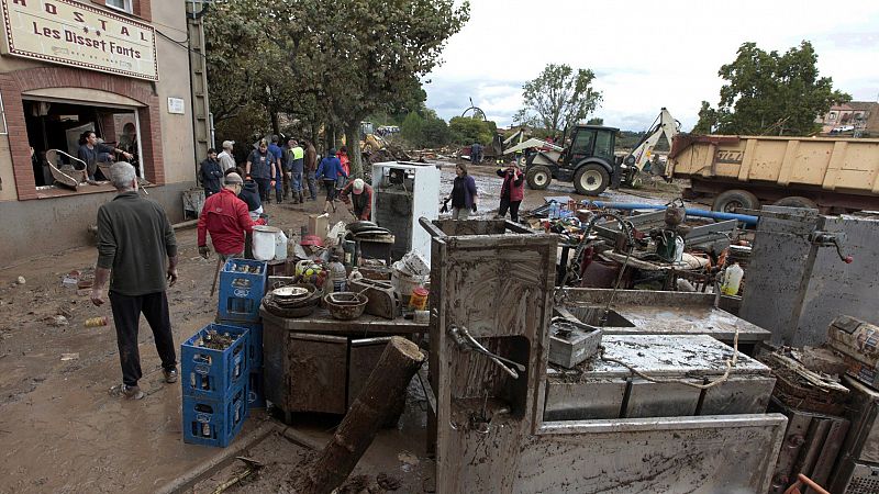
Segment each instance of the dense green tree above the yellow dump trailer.
M726 80L716 109L702 102L693 132L742 135L810 135L819 115L852 97L820 77L817 54L808 41L785 54L755 43L738 47L735 60L717 72Z

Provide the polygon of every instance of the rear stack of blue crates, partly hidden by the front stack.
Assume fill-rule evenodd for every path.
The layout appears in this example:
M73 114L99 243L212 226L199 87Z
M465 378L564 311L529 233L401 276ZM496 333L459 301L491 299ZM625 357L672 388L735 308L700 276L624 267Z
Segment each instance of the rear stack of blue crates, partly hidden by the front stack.
M247 358L251 364L247 403L265 408L263 390L263 318L259 305L266 294L268 267L265 261L230 259L220 272L216 322L249 330Z

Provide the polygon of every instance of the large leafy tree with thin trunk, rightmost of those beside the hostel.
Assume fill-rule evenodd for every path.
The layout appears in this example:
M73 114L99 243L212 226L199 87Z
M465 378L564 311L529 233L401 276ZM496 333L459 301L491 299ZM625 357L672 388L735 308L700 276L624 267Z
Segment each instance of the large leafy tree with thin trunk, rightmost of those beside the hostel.
M307 18L320 20L308 24L319 99L349 146L359 142L363 119L394 111L401 96L419 92L420 77L436 66L448 37L469 20L466 1L456 7L454 0L307 0L294 10L302 11L303 3ZM360 155L352 158L352 173L360 176Z

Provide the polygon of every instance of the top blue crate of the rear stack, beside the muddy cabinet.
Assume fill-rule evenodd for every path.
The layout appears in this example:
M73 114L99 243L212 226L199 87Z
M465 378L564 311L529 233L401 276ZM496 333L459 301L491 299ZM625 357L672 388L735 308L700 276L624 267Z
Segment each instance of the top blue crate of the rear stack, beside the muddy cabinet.
M220 271L220 300L216 307L220 319L259 321L259 304L266 294L266 266L265 261L251 259L226 261ZM248 272L244 272L244 269Z

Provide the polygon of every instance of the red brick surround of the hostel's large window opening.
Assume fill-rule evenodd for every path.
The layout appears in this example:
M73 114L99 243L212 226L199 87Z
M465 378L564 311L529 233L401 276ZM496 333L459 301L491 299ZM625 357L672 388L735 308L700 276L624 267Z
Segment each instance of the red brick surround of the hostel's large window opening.
M148 2L147 2L148 3ZM124 96L144 104L138 109L141 125L141 164L151 182L165 184L165 164L162 156L162 128L159 101L151 82L120 76L110 76L92 70L67 67L37 67L0 75L0 92L9 128L9 147L12 153L12 169L19 200L36 199L31 167L27 131L24 121L22 92L46 88L98 89ZM100 104L100 102L96 102Z

